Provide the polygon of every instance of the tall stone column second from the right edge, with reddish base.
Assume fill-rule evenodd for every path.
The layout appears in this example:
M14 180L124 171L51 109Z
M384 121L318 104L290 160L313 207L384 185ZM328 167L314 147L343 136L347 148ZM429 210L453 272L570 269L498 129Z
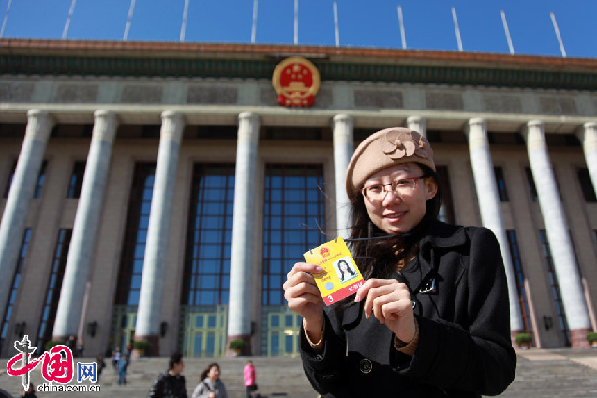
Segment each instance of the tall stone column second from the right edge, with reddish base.
M530 169L537 188L553 265L560 284L560 295L572 336L572 347L589 347L586 340L587 331L591 327L589 310L582 294L582 283L576 267L569 228L547 151L544 122L528 122L523 136L527 144Z

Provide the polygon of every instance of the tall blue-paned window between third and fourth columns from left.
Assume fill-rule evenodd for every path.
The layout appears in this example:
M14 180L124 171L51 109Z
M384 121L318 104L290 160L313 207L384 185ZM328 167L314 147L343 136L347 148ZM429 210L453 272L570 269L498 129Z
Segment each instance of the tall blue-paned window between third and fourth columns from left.
M198 163L194 167L183 305L228 304L234 174L233 164Z

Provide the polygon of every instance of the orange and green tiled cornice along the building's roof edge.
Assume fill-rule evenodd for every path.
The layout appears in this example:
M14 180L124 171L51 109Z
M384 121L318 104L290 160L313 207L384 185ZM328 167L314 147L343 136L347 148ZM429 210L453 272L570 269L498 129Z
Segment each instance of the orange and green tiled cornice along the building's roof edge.
M597 90L594 58L278 44L0 39L0 73L269 79L292 55L321 81Z

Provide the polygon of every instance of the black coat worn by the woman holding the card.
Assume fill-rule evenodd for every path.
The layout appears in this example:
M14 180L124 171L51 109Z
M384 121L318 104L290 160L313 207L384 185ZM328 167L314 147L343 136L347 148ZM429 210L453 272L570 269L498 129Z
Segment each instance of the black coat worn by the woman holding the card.
M394 277L406 283L419 323L414 356L360 304L326 311L316 354L301 328L305 373L323 397L480 397L514 380L507 283L499 244L485 228L436 222Z

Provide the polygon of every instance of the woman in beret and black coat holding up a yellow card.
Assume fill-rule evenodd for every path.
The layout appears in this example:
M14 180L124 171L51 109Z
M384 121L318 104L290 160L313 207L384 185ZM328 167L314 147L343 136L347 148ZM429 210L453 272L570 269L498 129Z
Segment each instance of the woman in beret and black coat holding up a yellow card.
M323 311L312 274L284 283L303 317L301 357L323 397L480 397L514 379L505 272L489 230L437 221L429 142L387 128L355 150L346 173L351 249L366 282Z

